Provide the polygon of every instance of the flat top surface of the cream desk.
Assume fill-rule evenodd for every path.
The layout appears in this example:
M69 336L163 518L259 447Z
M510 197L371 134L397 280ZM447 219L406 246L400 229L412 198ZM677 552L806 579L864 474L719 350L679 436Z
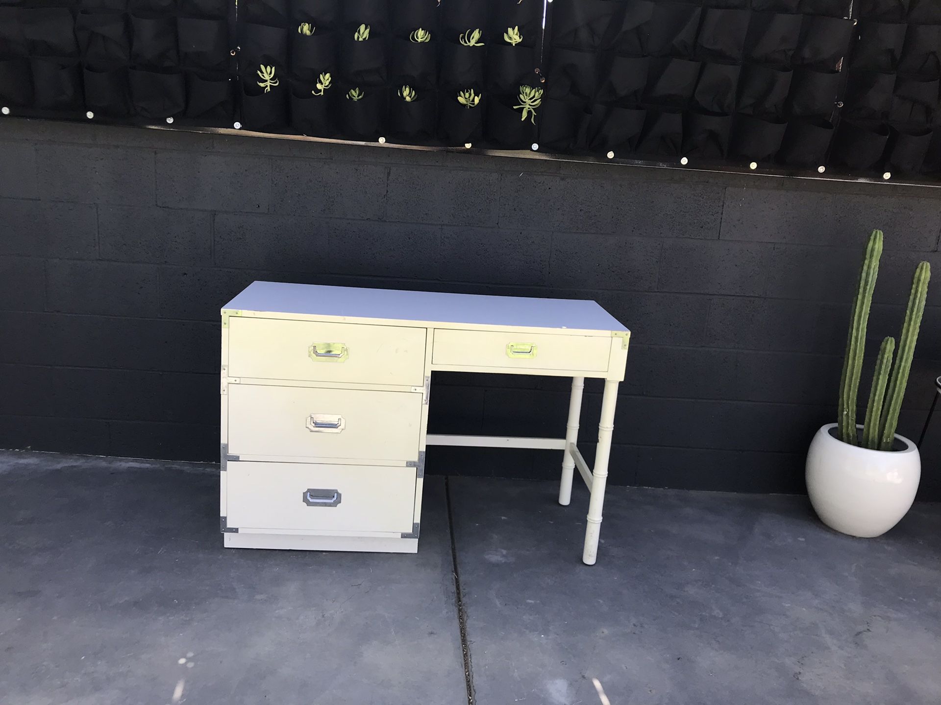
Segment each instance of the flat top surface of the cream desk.
M309 316L626 331L594 301L256 281L223 310Z

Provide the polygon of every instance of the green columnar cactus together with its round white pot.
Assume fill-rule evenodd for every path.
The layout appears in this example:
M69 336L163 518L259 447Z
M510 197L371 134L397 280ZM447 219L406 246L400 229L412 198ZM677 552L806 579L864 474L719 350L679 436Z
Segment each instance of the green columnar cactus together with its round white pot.
M882 341L866 416L862 424L856 423L866 325L882 249L882 231L873 230L853 302L839 382L837 423L817 431L806 462L807 493L822 522L844 534L864 538L880 536L899 523L915 501L921 477L917 447L895 430L925 310L931 276L928 262L920 262L915 270L898 350L895 338Z

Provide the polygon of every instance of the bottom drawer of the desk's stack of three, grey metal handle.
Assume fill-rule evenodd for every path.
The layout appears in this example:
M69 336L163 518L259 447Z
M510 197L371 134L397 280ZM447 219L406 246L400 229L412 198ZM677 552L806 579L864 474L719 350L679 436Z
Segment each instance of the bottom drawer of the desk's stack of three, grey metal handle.
M412 530L414 467L228 462L227 525L240 531Z

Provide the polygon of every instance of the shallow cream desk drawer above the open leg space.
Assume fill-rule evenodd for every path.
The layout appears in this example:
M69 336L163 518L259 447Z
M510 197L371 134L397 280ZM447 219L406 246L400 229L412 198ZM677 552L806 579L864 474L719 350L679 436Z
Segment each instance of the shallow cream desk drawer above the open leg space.
M438 329L431 362L445 368L603 372L611 346L611 337Z

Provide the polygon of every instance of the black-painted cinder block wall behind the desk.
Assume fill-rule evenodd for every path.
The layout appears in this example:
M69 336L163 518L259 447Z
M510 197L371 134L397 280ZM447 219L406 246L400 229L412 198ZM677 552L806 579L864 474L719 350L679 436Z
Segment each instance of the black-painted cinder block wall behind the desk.
M3 118L0 447L214 461L218 310L269 279L596 299L633 332L611 481L801 492L873 227L873 351L917 261L934 269L901 417L917 439L941 190ZM430 426L562 435L567 384L439 373ZM922 454L938 498L941 415ZM432 448L428 471L555 478L558 455Z

